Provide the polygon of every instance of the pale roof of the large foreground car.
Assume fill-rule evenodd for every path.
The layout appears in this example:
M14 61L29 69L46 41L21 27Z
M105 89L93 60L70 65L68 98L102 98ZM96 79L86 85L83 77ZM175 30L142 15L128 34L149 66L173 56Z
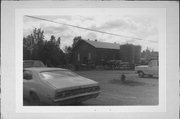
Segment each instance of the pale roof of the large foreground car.
M63 68L52 68L52 67L30 67L30 68L24 68L24 70L31 70L36 72L53 71L53 70L68 71L67 69L63 69Z

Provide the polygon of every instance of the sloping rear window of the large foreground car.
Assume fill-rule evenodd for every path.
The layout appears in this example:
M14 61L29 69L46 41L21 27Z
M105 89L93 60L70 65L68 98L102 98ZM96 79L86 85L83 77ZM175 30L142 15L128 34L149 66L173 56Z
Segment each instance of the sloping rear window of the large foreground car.
M41 79L52 79L52 78L61 78L61 77L76 77L76 73L71 71L45 71L40 73Z

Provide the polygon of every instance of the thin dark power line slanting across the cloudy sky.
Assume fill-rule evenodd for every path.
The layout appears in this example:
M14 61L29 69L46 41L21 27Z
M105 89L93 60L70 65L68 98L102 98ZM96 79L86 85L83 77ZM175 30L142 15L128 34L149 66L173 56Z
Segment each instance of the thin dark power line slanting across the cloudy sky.
M99 33L104 33L104 34L114 35L114 36L119 36L119 37L124 37L124 38L142 40L142 39L136 38L136 37L129 37L129 36L125 36L125 35L119 35L119 34L114 34L114 33L109 33L109 32L104 32L104 31L89 29L89 28L85 28L85 27L80 27L80 26L72 25L72 24L66 24L66 23L56 22L56 21L52 21L52 20L48 20L48 19L44 19L44 18L29 16L29 15L25 15L25 16L26 16L26 17L30 17L30 18L34 18L34 19L39 19L39 20L44 20L44 21L52 22L52 23L57 23L57 24L61 24L61 25L71 26L71 27L75 27L75 28L79 28L79 29L89 30L89 31L93 31L93 32L99 32ZM151 42L151 41L150 41L150 42ZM155 42L155 41L153 41L153 42Z

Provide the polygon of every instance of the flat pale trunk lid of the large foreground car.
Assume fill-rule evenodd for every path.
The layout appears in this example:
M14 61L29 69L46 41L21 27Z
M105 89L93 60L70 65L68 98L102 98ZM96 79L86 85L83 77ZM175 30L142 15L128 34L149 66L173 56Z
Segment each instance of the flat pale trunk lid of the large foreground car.
M82 76L76 77L63 77L63 78L51 78L46 79L46 83L56 89L66 89L73 87L86 87L90 85L98 85L96 81L90 80Z

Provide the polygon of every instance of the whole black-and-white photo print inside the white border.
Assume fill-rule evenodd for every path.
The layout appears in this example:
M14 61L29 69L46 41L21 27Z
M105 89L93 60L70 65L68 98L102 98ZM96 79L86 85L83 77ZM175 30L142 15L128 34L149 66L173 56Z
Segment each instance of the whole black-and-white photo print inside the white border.
M159 104L158 18L24 15L23 106Z

